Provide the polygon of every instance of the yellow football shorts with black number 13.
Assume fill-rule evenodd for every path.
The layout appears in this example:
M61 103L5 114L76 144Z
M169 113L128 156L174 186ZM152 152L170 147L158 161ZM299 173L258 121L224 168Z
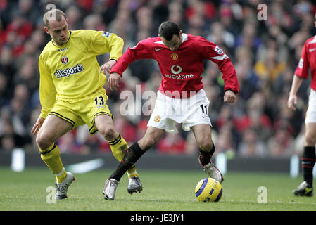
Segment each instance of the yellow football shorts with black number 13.
M105 114L113 119L113 115L110 113L106 103L107 101L108 96L104 89L83 98L72 98L69 100L57 98L49 114L56 115L70 122L73 125L72 129L87 124L90 134L95 134L98 131L94 125L94 119L97 115Z

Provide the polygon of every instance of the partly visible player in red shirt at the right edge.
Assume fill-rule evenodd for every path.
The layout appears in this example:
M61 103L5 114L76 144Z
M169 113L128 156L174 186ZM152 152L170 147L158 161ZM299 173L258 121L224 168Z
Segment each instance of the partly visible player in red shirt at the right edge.
M303 182L293 191L293 194L298 196L313 195L312 169L314 168L316 161L316 36L305 41L300 61L294 72L288 100L288 107L292 110L296 110L296 103L298 100L296 93L301 86L303 79L308 78L309 69L312 82L310 84L311 90L308 99L308 110L305 115L305 143L301 158L303 167Z

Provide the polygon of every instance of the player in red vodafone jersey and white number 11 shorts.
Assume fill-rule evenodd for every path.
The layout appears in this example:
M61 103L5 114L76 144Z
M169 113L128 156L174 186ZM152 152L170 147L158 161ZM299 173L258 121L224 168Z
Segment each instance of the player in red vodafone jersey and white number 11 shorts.
M115 172L106 180L105 199L114 200L120 178L137 162L141 155L156 145L166 132L177 132L175 122L184 131L192 130L199 147L201 166L208 176L219 182L222 174L211 158L215 146L208 117L209 101L203 90L201 74L203 59L217 64L225 81L225 103L234 103L239 92L234 66L229 57L216 44L203 37L184 34L179 25L166 21L159 27L159 37L148 38L127 49L110 72L108 86L117 89L122 73L138 59L155 59L162 75L155 108L147 124L144 137L129 147Z

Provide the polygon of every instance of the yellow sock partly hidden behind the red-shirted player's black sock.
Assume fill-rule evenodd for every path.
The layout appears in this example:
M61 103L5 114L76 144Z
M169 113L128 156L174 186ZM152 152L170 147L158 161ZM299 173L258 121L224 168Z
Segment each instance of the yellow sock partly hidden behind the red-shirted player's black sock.
M110 150L112 150L114 157L118 160L118 162L120 162L128 149L127 142L122 136L120 136L120 134L118 134L116 139L113 141L108 141L108 143L110 144ZM137 174L135 165L132 165L132 167L127 169L127 175L128 178L131 178L132 176L139 176L139 174Z

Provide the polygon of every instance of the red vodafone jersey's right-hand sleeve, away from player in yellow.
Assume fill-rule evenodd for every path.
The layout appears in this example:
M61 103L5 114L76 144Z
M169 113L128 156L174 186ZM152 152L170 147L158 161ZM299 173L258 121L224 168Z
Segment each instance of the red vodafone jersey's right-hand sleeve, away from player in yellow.
M203 37L200 37L198 41L198 46L201 47L203 58L216 63L220 72L222 72L222 79L224 79L225 82L225 91L232 90L235 94L239 93L239 82L230 58L213 42L207 41Z

